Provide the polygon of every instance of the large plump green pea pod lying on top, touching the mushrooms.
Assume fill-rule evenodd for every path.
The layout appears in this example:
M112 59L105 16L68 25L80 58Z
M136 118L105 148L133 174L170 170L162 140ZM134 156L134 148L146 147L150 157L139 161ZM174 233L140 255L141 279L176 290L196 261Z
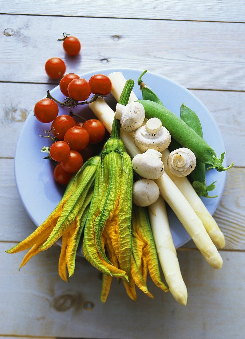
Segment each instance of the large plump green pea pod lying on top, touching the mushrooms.
M196 158L210 165L207 169L216 168L217 171L222 172L231 168L232 162L228 167L224 167L222 162L224 160L225 152L221 154L220 159L217 157L213 148L204 141L193 129L184 121L178 118L174 113L169 111L166 107L150 100L138 100L145 108L145 117L147 119L157 117L162 121L164 127L168 129L171 136L180 143L183 147L191 149Z

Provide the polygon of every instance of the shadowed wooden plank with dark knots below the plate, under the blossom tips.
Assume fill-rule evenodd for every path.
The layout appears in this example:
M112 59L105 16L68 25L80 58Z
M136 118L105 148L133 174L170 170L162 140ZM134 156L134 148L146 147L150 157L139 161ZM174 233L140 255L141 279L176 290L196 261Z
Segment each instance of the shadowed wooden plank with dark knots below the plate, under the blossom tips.
M1 253L5 248L6 244L0 244ZM149 290L155 299L138 290L138 300L133 303L123 284L113 281L102 304L98 271L79 258L75 275L65 283L57 274L59 251L56 246L39 254L20 272L23 253L2 255L1 334L112 339L160 339L163 334L171 339L244 337L244 252L221 252L224 265L215 271L199 252L179 251L189 294L184 307L151 281Z

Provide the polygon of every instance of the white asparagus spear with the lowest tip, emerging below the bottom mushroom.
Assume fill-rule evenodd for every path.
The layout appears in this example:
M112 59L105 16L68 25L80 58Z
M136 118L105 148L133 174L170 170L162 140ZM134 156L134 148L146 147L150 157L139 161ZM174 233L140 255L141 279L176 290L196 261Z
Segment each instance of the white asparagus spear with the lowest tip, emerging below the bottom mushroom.
M177 253L170 232L167 211L161 196L156 202L148 206L148 214L156 251L169 291L176 301L182 305L186 305L187 288L180 272Z

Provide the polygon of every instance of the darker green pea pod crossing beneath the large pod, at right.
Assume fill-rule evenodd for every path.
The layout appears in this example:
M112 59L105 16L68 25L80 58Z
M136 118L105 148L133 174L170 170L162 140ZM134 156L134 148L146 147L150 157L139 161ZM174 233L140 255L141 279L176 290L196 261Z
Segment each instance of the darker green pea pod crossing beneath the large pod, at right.
M195 112L192 111L189 107L185 106L184 104L180 107L180 118L183 120L188 126L190 126L193 131L195 131L197 134L200 135L200 137L203 138L202 133L202 126L200 123L200 120ZM176 149L176 148L175 148ZM197 160L196 167L194 171L190 174L192 180L193 180L193 187L199 197L202 195L206 198L216 198L215 196L209 196L209 191L214 190L215 188L215 182L210 184L209 186L206 185L206 167L205 164L199 160Z

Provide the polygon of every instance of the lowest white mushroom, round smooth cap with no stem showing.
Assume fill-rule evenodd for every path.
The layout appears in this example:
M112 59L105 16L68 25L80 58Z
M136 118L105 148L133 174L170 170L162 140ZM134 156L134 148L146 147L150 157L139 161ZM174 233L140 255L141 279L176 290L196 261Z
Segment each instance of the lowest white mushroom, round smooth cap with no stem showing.
M137 206L149 206L159 195L159 188L153 180L140 179L133 184L132 200Z

